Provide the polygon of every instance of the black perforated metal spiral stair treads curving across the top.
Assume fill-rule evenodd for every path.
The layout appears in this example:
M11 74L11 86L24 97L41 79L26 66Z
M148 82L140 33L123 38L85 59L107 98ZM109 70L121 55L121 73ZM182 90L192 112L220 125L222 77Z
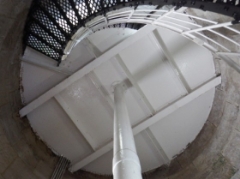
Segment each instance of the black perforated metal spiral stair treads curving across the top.
M239 21L240 5L236 1L34 0L25 25L24 44L60 63L72 35L86 22L109 11L138 5L187 6L232 16ZM123 23L112 27L138 30L143 25Z

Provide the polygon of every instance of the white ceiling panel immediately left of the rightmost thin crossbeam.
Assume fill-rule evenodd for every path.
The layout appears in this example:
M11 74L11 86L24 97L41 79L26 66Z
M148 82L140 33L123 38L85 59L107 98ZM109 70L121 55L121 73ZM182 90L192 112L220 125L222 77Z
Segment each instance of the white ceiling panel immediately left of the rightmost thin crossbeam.
M120 56L155 110L187 93L174 69L148 36L122 51Z

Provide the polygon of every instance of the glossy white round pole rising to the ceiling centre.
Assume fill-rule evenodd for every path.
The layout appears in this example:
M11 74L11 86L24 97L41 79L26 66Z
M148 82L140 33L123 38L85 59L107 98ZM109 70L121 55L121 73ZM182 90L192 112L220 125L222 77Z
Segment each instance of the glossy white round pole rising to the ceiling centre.
M123 85L115 85L113 176L114 179L142 179L124 95Z

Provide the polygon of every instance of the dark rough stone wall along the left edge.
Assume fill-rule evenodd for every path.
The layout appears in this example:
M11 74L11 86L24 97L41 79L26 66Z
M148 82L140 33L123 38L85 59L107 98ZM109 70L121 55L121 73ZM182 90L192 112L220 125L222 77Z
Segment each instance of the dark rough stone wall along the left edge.
M20 119L20 57L30 0L0 0L0 179L48 179L56 157Z

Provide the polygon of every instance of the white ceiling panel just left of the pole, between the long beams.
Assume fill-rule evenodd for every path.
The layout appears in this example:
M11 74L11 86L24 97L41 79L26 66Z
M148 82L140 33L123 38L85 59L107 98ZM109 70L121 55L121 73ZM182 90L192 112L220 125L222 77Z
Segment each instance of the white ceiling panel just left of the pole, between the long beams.
M108 104L87 77L81 78L57 96L66 103L74 123L91 139L94 149L112 140L113 115L109 113Z

